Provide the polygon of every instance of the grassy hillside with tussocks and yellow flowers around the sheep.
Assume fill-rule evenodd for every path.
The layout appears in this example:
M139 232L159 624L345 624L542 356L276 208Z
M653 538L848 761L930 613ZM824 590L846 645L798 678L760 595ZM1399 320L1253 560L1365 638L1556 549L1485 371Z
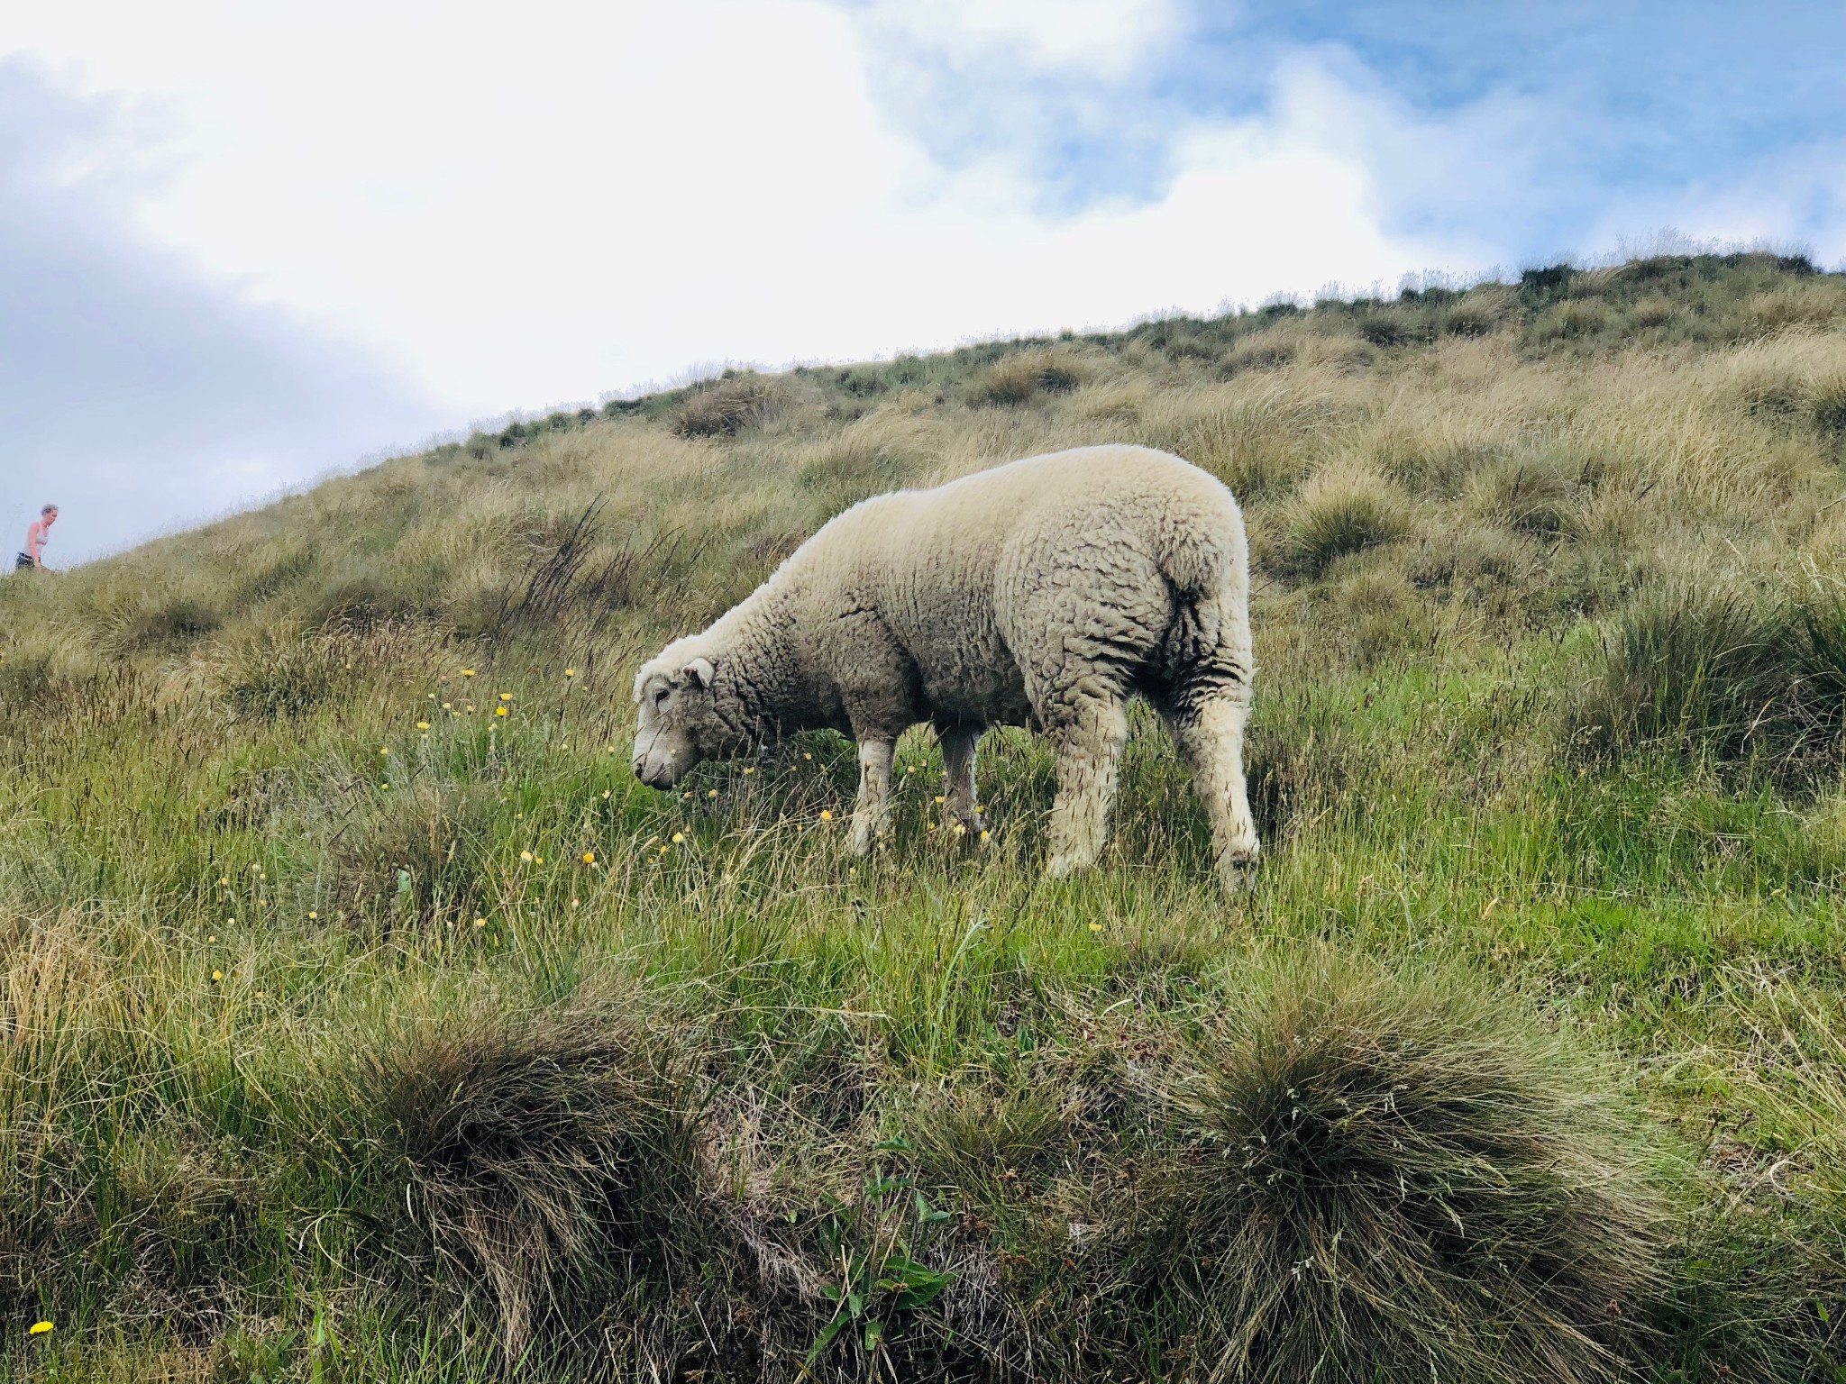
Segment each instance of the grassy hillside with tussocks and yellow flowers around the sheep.
M1172 448L1266 858L628 773L851 500ZM1846 277L737 373L0 581L0 1378L1846 1377ZM70 513L78 502L70 502ZM33 1321L48 1332L28 1334Z

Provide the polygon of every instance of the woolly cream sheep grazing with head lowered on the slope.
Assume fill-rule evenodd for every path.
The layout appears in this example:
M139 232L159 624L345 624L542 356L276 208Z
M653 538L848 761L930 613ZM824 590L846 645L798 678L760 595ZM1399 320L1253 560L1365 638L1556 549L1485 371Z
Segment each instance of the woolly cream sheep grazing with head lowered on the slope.
M945 819L978 830L975 744L1030 725L1058 757L1052 875L1108 838L1126 701L1170 727L1226 888L1257 854L1244 792L1250 565L1231 493L1146 447L1034 456L864 500L701 635L635 675L635 775L672 788L783 731L858 742L853 849L890 819L897 736L930 722Z

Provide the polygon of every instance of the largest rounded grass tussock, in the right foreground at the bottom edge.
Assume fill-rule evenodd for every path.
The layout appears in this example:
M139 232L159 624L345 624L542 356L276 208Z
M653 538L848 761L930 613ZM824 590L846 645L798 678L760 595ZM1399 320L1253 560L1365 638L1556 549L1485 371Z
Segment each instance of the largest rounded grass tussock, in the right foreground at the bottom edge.
M1458 978L1279 965L1170 1102L1146 1270L1246 1380L1615 1380L1667 1283L1604 1072Z

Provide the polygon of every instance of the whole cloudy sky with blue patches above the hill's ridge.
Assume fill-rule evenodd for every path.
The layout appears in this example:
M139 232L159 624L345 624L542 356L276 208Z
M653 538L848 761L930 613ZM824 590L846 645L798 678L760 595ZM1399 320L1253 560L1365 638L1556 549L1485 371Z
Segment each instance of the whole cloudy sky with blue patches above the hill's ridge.
M1842 0L6 4L0 526L1669 227L1837 268L1842 52Z

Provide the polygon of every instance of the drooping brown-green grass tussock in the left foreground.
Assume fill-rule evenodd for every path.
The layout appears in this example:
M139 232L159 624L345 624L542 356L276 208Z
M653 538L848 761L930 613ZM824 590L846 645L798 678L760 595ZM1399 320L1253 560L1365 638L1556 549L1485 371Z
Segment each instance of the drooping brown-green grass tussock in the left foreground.
M696 1242L698 1118L676 1044L613 1004L478 1004L386 1032L353 1067L369 1218L485 1295L517 1360Z

